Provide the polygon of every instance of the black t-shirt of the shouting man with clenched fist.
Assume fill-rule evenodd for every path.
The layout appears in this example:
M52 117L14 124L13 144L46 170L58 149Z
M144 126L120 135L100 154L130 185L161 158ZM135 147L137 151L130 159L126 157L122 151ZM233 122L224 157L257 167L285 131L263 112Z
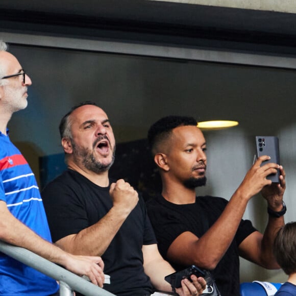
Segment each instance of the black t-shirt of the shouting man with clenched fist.
M53 241L76 234L105 216L113 205L109 189L70 169L48 184L41 195ZM152 293L143 270L142 245L154 243L153 228L140 198L102 255L104 273L111 281L104 289L122 296Z

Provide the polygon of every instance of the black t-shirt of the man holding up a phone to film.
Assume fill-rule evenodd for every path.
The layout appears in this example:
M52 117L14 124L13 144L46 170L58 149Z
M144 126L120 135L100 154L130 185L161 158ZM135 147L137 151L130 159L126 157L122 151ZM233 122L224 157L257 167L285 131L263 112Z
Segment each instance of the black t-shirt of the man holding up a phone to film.
M205 234L224 211L227 203L227 200L213 196L198 196L194 204L187 205L172 204L162 196L148 201L147 211L161 255L168 260L166 255L170 244L183 232L190 231L198 237ZM241 220L234 240L216 268L212 270L212 275L223 296L239 295L238 246L254 231L256 229L251 221ZM170 263L177 270L187 267L174 262Z

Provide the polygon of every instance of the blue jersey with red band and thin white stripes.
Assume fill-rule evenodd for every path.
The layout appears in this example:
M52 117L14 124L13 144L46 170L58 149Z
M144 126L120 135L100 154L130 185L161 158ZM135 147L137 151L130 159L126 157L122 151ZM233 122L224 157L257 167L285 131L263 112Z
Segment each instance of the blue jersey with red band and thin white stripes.
M0 200L24 225L51 242L35 176L8 136L0 132ZM50 295L55 280L0 252L0 295Z

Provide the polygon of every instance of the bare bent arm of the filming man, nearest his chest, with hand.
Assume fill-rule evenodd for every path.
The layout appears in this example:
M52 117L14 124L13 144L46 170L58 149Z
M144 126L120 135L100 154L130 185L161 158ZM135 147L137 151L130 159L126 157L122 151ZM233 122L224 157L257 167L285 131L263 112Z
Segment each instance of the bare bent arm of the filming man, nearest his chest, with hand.
M258 158L232 195L223 213L202 237L184 232L171 243L167 251L167 257L170 260L184 265L194 263L206 269L216 267L236 234L249 200L264 186L271 184L271 181L266 180L266 176L279 168L279 165L273 163L260 166L267 159L269 159L268 156ZM283 171L282 174L284 174ZM281 179L284 179L283 176ZM266 243L263 245L268 245L270 241L268 237L270 235L268 236L266 232L266 240L264 239ZM255 235L250 238L255 239ZM248 249L244 252L248 252Z

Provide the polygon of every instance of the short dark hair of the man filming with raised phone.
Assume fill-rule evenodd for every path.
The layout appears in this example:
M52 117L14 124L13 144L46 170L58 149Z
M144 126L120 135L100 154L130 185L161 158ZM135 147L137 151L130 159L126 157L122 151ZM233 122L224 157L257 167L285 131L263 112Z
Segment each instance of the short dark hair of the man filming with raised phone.
M156 121L148 131L148 142L152 154L157 153L159 144L168 139L172 130L182 126L197 126L198 122L193 117L169 115Z

